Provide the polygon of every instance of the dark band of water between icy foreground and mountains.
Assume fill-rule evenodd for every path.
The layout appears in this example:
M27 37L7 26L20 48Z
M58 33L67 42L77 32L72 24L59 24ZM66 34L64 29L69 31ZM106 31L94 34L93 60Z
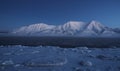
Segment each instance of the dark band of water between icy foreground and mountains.
M18 37L2 36L0 45L60 46L60 47L120 47L120 38L83 37Z

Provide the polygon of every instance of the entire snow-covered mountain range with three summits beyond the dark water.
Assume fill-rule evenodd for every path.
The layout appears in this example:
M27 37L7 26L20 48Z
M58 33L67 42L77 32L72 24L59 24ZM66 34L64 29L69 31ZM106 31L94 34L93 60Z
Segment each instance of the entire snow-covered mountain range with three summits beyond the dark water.
M17 35L31 36L118 36L119 33L102 25L100 22L89 23L70 21L63 25L47 25L44 23L23 26L12 32Z

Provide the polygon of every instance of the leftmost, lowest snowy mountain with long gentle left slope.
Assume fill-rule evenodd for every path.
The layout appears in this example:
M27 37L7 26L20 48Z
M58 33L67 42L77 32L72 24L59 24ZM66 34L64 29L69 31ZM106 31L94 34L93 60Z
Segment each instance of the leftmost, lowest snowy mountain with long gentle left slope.
M44 23L32 24L32 25L29 25L29 26L21 27L17 31L13 31L13 33L34 34L34 33L37 33L37 32L40 33L42 31L45 32L47 30L51 30L54 27L55 26L53 26L53 25L47 25L47 24L44 24Z

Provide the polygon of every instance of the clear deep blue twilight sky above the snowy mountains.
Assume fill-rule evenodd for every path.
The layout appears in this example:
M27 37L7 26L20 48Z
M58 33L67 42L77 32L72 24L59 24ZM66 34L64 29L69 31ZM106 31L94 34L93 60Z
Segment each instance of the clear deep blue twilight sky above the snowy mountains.
M120 27L120 0L0 0L0 30L71 20Z

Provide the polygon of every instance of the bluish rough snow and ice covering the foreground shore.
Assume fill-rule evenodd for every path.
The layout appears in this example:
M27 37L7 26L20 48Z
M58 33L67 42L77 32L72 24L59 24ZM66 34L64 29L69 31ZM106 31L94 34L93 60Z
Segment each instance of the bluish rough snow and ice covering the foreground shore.
M0 46L0 71L120 71L120 48Z

